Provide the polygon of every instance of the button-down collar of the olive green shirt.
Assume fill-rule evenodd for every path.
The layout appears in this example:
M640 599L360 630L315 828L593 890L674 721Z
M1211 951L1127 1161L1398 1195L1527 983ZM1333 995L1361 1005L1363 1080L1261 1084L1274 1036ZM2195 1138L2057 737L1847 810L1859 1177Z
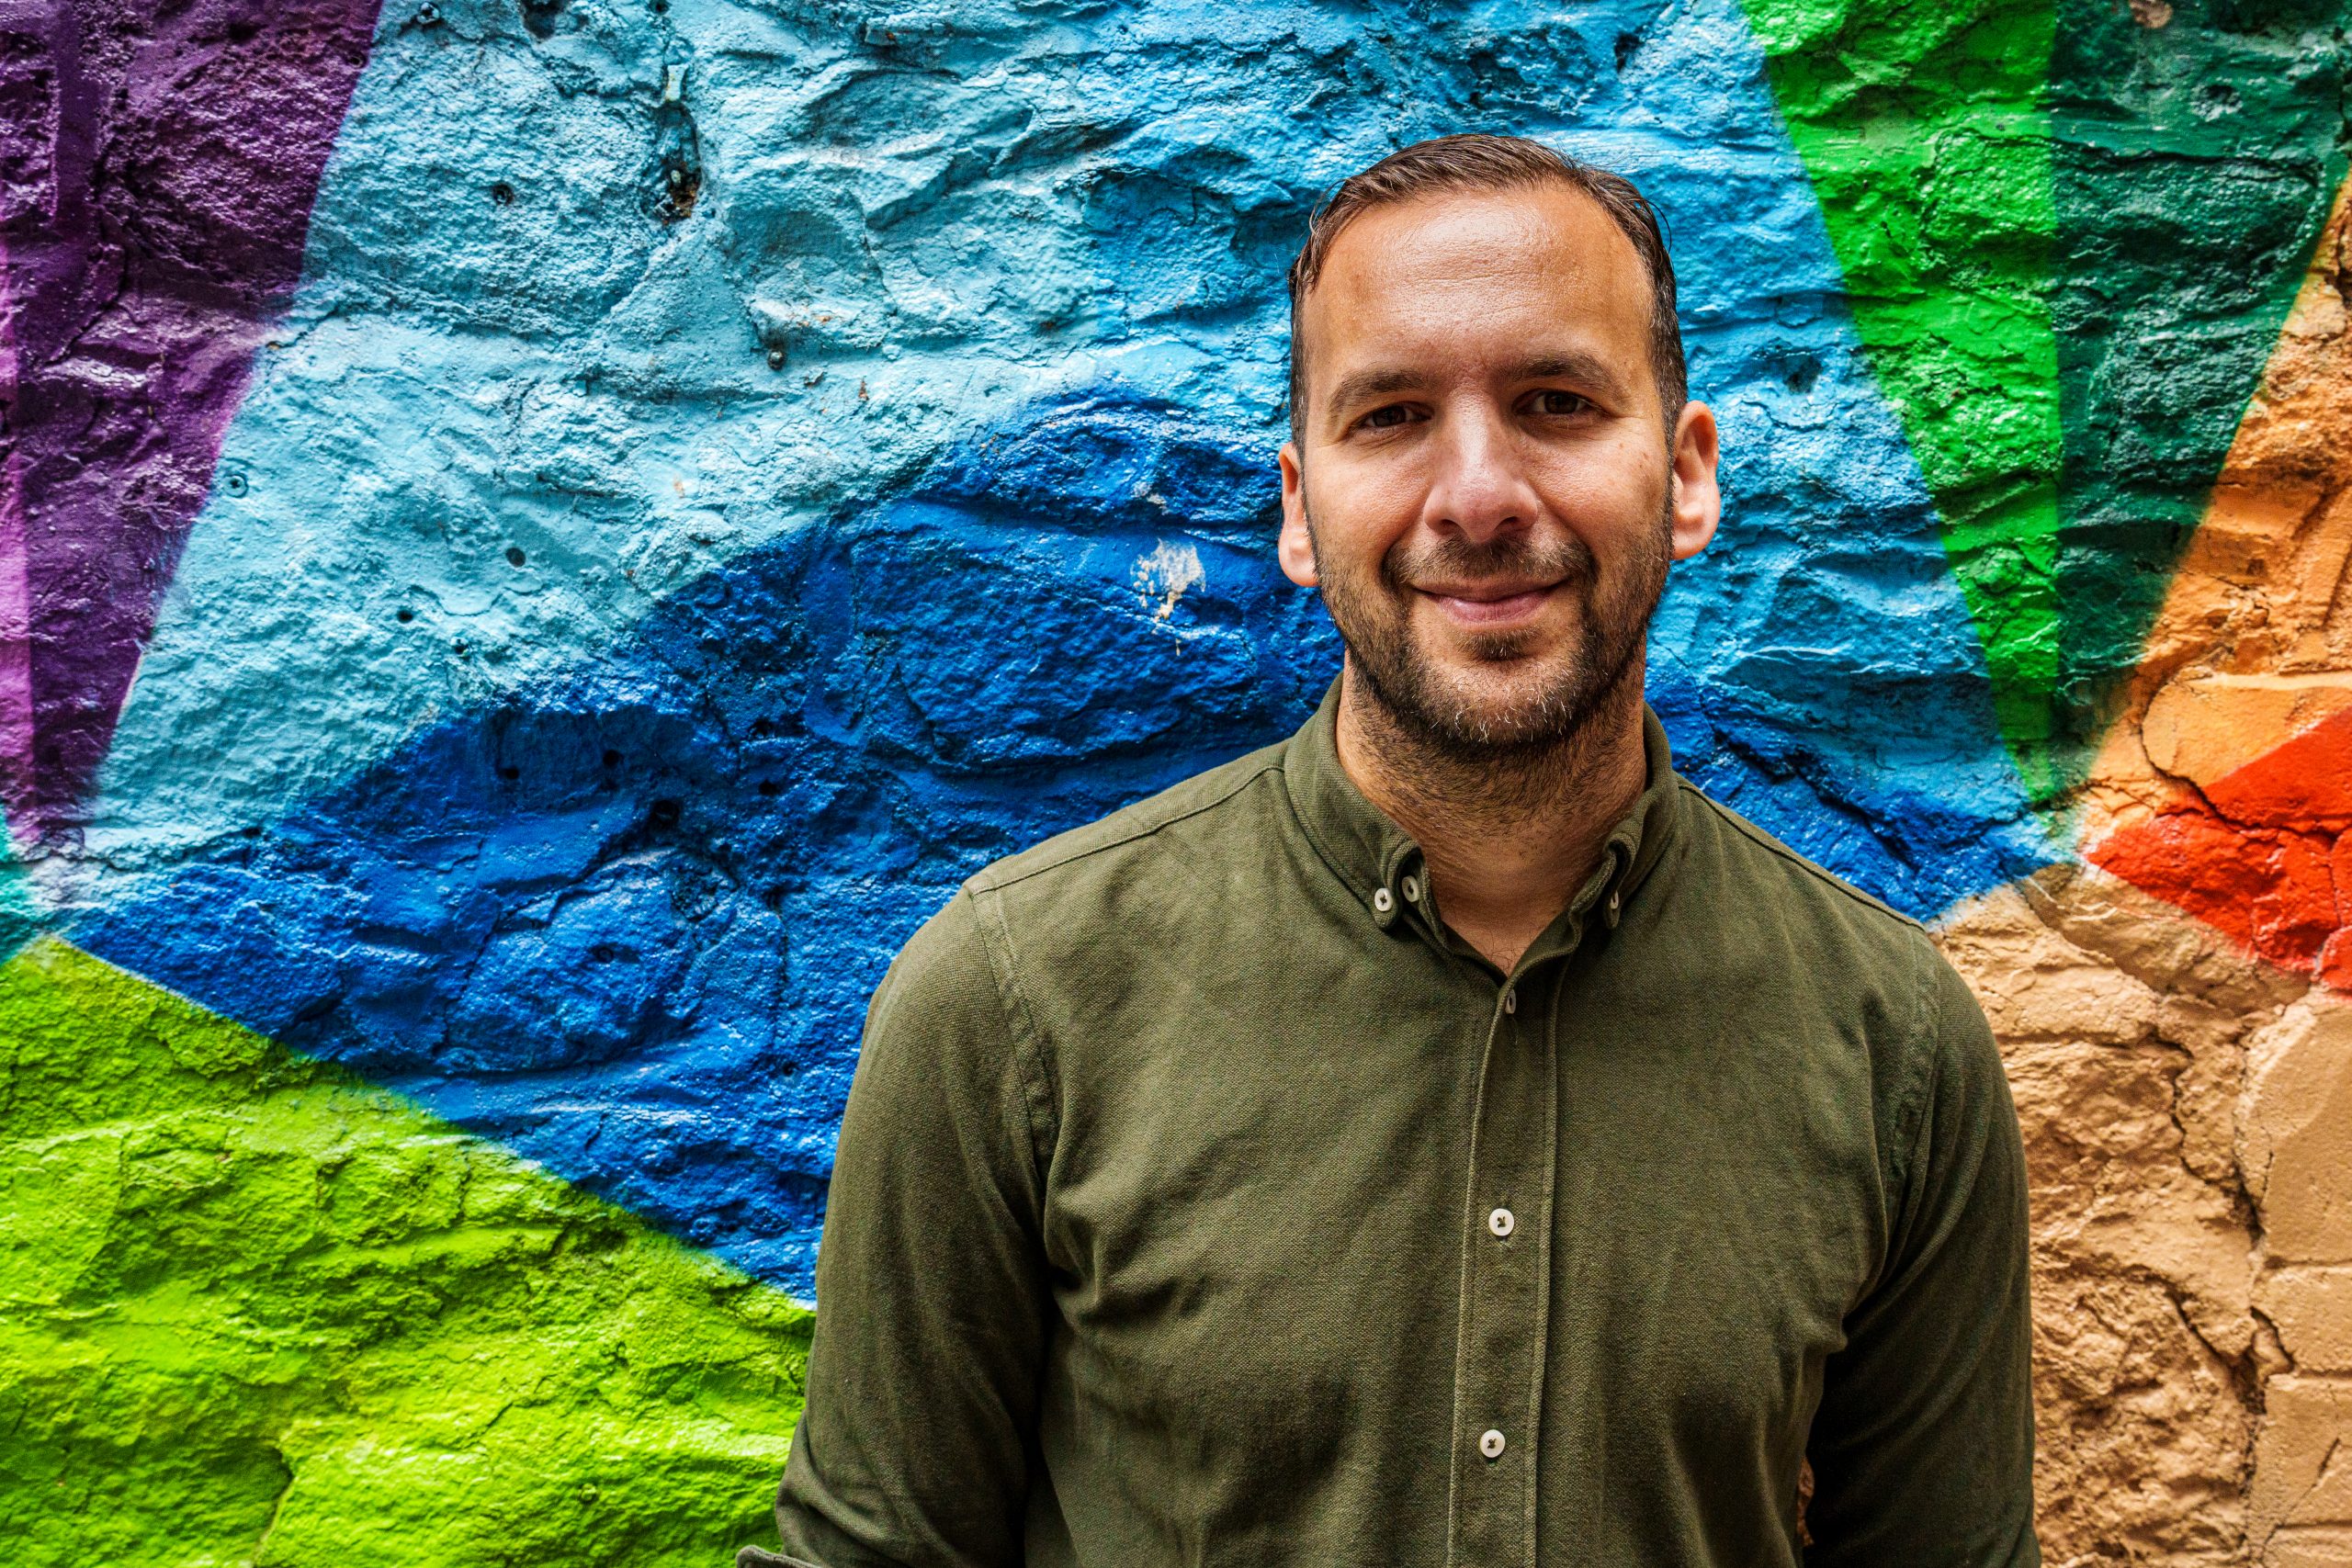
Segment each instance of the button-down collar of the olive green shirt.
M1599 917L1616 926L1625 903L1672 839L1682 780L1675 778L1675 752L1665 741L1665 726L1649 703L1642 705L1642 752L1646 764L1642 795L1602 839L1602 863L1562 912L1564 922L1581 926L1583 914L1597 905ZM1374 924L1385 931L1404 919L1423 896L1421 844L1364 799L1341 766L1338 679L1284 745L1282 778L1298 825L1324 863L1364 903ZM1550 933L1529 954L1536 957L1548 945Z

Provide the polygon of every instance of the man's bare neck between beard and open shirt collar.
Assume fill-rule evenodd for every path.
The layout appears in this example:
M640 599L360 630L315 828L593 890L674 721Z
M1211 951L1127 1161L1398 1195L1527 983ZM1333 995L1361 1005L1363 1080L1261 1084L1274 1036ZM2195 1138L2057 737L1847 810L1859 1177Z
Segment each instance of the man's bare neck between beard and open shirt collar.
M1642 663L1569 736L1491 757L1406 731L1352 661L1341 677L1341 766L1421 844L1446 926L1503 973L1585 884L1609 830L1642 795Z

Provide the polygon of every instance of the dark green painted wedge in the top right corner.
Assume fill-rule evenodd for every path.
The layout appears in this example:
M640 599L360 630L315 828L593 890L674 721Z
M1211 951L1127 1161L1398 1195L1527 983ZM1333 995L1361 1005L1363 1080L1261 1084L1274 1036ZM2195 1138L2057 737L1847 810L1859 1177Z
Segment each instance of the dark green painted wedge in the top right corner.
M2060 708L2096 741L2343 181L2345 0L2063 0Z

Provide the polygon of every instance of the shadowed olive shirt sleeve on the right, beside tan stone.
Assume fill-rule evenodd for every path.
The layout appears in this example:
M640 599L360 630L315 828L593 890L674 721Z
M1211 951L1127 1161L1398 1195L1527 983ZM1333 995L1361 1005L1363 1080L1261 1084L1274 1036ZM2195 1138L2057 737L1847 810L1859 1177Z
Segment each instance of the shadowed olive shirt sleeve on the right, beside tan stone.
M1809 1568L2042 1561L2025 1150L1976 997L1931 964L1926 1084L1886 1265L1846 1319L1813 1415Z

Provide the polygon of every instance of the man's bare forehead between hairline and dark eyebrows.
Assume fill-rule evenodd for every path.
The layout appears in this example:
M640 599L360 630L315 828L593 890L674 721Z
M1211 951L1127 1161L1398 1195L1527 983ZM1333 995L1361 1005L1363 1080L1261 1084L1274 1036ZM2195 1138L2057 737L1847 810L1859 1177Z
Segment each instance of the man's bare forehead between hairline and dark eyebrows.
M1364 355L1463 360L1534 341L1646 362L1649 322L1632 240L1583 190L1545 183L1357 216L1331 242L1298 331L1322 381Z

